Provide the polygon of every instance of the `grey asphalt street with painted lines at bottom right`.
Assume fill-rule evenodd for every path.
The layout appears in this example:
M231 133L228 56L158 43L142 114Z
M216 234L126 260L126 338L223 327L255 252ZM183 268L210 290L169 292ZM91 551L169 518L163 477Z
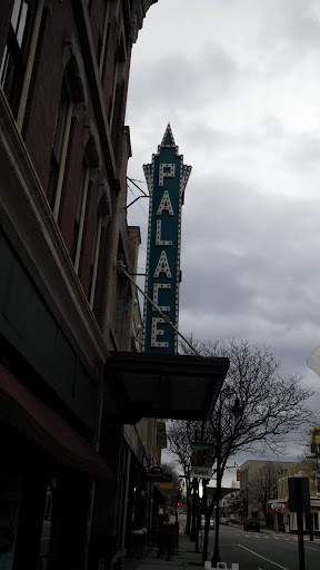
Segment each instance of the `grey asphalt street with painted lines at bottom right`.
M209 551L213 552L214 531L209 534ZM306 570L320 569L320 543L304 541ZM220 558L231 568L239 562L240 570L299 570L297 537L244 532L242 527L220 527Z

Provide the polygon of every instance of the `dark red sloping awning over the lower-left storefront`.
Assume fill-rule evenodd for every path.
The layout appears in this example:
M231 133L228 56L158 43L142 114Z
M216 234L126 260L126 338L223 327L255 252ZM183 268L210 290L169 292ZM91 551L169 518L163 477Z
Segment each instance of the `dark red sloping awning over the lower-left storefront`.
M0 420L17 426L58 462L94 479L114 480L99 453L0 363Z

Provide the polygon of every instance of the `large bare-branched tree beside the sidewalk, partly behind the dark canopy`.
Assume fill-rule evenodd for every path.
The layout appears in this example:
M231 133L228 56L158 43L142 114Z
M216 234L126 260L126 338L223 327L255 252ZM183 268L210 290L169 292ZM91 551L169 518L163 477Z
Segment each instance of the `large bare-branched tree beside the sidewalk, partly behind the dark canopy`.
M170 451L176 453L184 469L190 472L191 442L197 439L217 441L219 435L220 475L227 461L238 452L263 452L267 448L284 453L286 435L304 422L310 422L311 410L307 404L312 391L301 386L297 374L283 377L280 363L266 346L248 341L230 340L227 343L202 343L190 337L190 342L203 356L228 356L230 367L220 392L216 409L208 422L177 420L168 426ZM187 345L181 352L189 353ZM234 400L241 407L240 417L234 417ZM216 453L212 464L217 460ZM207 558L209 520L214 498L206 513L203 560ZM208 524L207 524L208 521Z

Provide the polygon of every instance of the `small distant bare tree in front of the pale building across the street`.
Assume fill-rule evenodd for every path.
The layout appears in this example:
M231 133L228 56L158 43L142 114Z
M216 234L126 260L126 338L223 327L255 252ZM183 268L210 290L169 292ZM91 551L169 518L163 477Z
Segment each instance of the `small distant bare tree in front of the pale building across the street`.
M258 469L254 476L250 479L249 501L263 513L268 523L269 501L278 497L278 468L268 461Z

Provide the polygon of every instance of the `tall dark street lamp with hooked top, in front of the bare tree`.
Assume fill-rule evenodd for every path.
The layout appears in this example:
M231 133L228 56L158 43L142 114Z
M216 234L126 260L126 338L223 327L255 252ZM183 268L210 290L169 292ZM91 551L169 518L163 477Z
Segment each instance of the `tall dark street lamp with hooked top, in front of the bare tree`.
M220 505L220 499L221 499L221 407L222 407L222 400L221 395L223 393L230 393L236 392L231 387L227 387L224 391L220 392L220 405L218 409L218 429L217 429L217 492L216 492L216 500L217 500L217 508L216 508L216 524L214 524L214 550L213 550L213 557L212 557L212 568L217 568L217 563L221 562L220 559L220 552L219 552L219 523L220 523L220 512L219 512L219 505ZM234 404L232 406L232 414L236 419L241 417L243 409L240 404L239 399L234 399Z

